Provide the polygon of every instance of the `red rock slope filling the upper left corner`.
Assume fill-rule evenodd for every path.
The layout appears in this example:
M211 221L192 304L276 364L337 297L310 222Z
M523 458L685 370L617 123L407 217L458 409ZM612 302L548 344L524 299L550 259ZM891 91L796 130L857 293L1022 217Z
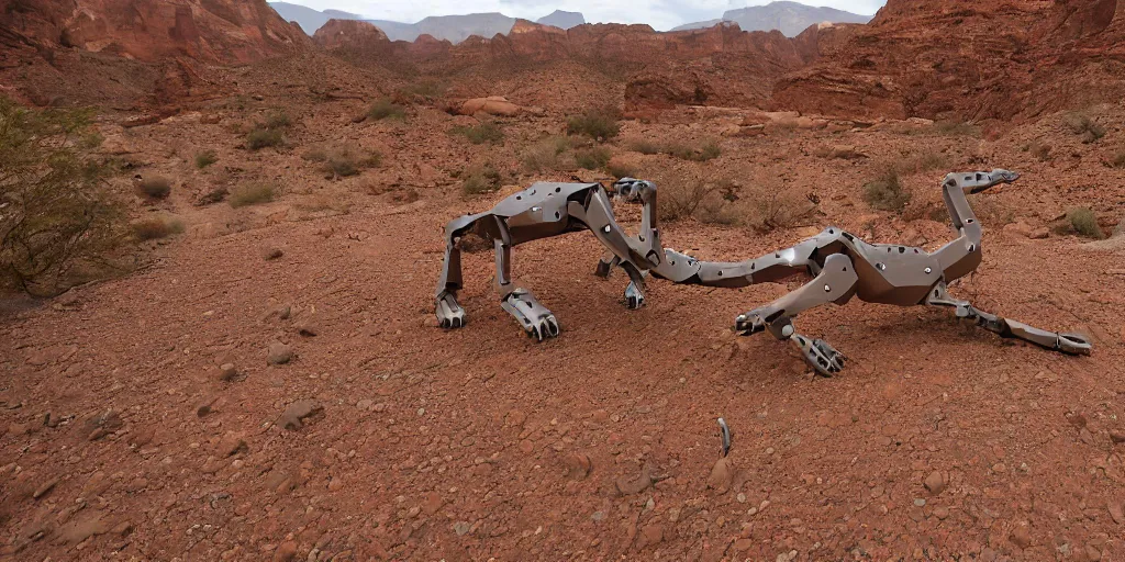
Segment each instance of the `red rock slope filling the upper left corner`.
M155 62L248 63L306 48L266 0L0 0L9 39Z

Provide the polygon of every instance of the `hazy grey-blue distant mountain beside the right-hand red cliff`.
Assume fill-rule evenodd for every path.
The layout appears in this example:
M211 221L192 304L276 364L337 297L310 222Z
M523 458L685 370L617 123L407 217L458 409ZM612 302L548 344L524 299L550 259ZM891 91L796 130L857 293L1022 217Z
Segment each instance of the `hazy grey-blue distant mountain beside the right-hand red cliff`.
M745 31L768 31L777 29L786 37L796 37L801 31L829 21L832 24L866 24L873 16L863 16L835 8L812 7L799 2L776 1L765 6L749 6L727 10L720 19L709 19L675 27L673 31L711 27L722 21L734 21Z

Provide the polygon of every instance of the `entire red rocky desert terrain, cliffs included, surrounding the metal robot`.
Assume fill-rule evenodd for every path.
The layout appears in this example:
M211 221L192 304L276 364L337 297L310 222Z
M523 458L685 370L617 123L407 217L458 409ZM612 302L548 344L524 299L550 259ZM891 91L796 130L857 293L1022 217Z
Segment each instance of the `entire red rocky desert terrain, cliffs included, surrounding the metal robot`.
M795 38L519 21L459 45L343 20L277 40L294 28L253 6L192 6L242 33L70 46L72 4L0 9L0 93L96 105L130 225L178 225L114 279L0 299L0 560L1125 555L1115 2L892 1ZM166 54L122 51L144 44ZM557 339L501 309L487 248L464 256L468 326L433 317L442 227L534 181L654 179L665 245L735 260L829 225L934 250L942 176L1000 166L1023 178L971 196L984 262L953 292L1087 334L1088 357L853 301L799 319L849 357L817 378L730 330L801 280L651 280L630 311L584 234L514 252Z

